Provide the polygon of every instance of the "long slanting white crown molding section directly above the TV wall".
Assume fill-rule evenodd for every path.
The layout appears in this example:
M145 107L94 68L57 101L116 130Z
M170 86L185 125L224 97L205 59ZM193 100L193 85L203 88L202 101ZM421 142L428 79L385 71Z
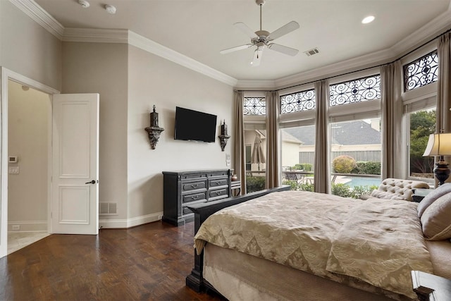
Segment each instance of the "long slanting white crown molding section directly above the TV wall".
M199 63L198 61L195 61L194 59L191 59L188 56L180 54L177 51L169 49L168 47L164 47L163 45L156 43L151 39L147 39L142 35L138 35L137 33L132 32L131 30L129 30L128 32L128 44L140 48L144 51L148 51L151 54L155 54L156 56L161 56L163 59L167 59L168 61L178 63L181 66L202 73L203 75L209 76L210 78L214 78L215 80L224 82L227 85L234 86L237 84L237 80L235 78L232 78L229 75L221 73L214 68L206 66L203 63Z

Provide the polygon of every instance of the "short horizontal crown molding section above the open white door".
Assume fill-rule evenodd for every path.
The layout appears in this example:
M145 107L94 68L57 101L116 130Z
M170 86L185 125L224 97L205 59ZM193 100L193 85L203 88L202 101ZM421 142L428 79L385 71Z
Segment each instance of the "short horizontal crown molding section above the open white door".
M129 30L109 30L96 28L66 28L63 42L128 43Z

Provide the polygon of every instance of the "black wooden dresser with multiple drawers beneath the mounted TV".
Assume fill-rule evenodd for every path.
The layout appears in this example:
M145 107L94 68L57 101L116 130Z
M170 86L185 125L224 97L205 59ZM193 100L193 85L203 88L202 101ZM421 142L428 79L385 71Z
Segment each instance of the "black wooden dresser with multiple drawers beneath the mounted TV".
M163 221L180 226L194 220L188 204L231 196L230 169L163 171Z

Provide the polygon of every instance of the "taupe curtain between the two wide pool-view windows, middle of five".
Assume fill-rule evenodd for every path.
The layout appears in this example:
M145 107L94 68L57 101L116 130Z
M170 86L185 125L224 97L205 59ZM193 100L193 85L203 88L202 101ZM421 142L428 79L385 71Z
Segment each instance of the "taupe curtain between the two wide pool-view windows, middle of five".
M315 179L314 191L330 193L330 146L329 146L329 82L315 82L316 94L316 136L315 136Z

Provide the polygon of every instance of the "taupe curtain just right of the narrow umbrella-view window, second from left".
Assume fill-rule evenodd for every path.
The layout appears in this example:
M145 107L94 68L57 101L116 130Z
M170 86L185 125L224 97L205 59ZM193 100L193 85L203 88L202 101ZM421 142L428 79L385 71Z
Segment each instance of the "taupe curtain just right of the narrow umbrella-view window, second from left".
M266 92L266 188L280 185L278 103L278 92Z

